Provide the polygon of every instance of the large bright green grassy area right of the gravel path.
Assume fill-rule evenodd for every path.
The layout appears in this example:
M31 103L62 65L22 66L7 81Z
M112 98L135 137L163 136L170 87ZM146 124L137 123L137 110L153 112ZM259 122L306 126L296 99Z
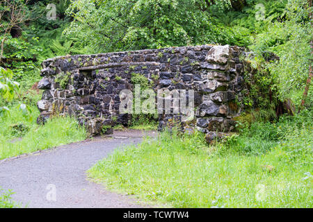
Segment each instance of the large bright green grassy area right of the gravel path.
M200 133L165 132L115 151L88 175L173 207L312 207L311 120L312 112L252 123L209 147Z

